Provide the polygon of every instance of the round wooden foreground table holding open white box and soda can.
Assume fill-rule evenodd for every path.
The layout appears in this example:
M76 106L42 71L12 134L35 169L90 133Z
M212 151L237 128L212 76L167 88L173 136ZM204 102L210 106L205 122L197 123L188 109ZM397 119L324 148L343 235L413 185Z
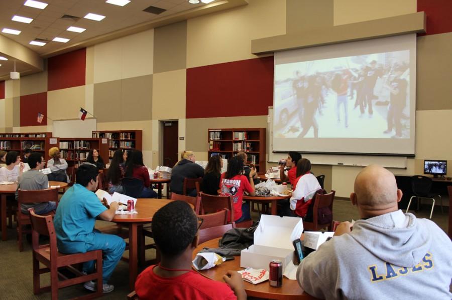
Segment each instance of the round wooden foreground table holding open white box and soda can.
M209 241L206 241L196 247L193 251L193 258L196 256L196 253L200 251L204 247L216 248L218 247L218 239L215 238ZM239 271L243 268L240 267L240 256L234 256L234 260L224 261L223 263L210 268L208 270L198 271L201 275L216 280L223 281L223 275L229 271ZM245 291L248 296L253 297L261 297L266 299L301 299L301 300L314 300L317 299L311 295L308 295L303 291L303 289L298 285L297 280L289 280L283 276L283 284L281 287L273 287L270 286L269 281L265 281L259 284L252 284L247 281L244 281Z

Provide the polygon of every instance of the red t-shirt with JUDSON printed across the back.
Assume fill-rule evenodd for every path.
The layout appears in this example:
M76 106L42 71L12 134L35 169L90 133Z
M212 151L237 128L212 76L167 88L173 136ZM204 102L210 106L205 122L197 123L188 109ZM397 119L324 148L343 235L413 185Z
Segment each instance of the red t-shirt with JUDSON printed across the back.
M233 196L234 221L242 217L243 192L251 192L252 187L248 178L244 175L236 175L231 179L224 178L225 173L220 177L221 196Z

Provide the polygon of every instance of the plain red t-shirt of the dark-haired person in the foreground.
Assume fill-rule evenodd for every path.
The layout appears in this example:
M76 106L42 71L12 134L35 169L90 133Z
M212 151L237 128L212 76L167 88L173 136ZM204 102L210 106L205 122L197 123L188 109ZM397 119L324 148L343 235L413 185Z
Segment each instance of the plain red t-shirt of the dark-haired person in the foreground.
M138 275L135 292L140 299L237 299L228 284L208 279L193 270L167 278L156 275L154 267L152 265Z

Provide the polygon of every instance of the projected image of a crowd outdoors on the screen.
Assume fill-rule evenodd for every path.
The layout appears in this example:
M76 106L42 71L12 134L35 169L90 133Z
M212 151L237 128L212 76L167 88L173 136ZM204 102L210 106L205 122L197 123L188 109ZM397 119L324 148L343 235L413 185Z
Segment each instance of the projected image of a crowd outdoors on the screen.
M276 138L409 139L409 50L275 66Z

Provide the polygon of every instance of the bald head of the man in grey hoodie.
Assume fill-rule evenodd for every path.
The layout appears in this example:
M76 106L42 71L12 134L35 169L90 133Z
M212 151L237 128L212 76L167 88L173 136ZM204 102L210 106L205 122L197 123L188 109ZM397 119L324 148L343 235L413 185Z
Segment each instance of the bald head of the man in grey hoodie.
M381 166L370 165L356 177L351 198L362 214L375 216L397 210L401 196L394 175Z

